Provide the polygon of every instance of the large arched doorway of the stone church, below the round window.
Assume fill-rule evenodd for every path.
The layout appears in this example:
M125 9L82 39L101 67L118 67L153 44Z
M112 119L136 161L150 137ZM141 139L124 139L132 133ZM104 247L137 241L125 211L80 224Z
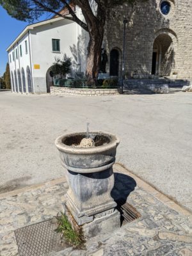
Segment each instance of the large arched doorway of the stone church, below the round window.
M173 40L162 33L156 37L152 53L152 75L170 76L175 67Z

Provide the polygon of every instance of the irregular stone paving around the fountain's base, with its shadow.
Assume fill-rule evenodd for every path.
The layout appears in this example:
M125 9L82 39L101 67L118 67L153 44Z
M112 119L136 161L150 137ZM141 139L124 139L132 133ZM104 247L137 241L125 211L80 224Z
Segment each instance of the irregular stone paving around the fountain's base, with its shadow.
M143 180L115 164L112 196L123 196L141 218L113 234L86 243L86 250L67 248L49 256L191 256L192 214ZM67 182L64 178L0 196L0 255L16 256L13 230L48 220L62 210Z

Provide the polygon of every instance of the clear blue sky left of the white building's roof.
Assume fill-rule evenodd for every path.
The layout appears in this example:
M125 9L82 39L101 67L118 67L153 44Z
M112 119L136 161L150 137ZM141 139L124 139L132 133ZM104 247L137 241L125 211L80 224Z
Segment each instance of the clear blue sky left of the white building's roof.
M39 20L50 19L50 13L43 15ZM13 19L6 10L0 6L0 76L6 68L8 62L8 55L6 48L15 40L20 32L28 25L28 22Z

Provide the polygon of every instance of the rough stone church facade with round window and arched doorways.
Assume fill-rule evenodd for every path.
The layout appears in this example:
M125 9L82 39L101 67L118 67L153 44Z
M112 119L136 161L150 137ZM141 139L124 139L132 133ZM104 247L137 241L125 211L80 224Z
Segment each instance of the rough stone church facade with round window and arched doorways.
M114 8L104 36L108 72L121 75L126 17L125 77L192 79L191 13L191 0L137 1Z

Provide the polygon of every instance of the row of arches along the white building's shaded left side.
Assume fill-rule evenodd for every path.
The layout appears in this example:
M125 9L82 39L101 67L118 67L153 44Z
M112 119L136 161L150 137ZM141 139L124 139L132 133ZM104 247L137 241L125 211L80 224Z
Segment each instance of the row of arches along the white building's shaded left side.
M12 76L13 92L33 93L32 83L31 83L31 70L29 66L26 68L26 76L25 76L24 68L21 68L21 74L19 69L17 69L17 72L16 70L14 70L14 75L13 75L13 71L11 74L12 74L11 76ZM26 83L26 78L27 78L27 83Z

